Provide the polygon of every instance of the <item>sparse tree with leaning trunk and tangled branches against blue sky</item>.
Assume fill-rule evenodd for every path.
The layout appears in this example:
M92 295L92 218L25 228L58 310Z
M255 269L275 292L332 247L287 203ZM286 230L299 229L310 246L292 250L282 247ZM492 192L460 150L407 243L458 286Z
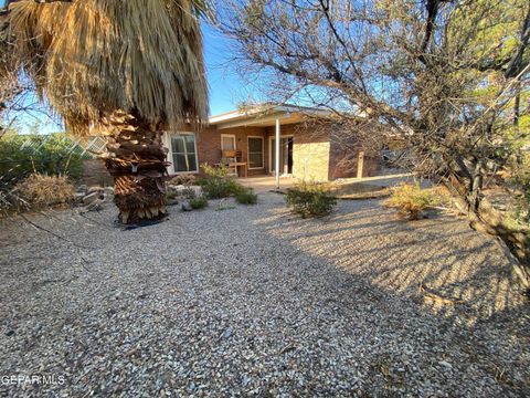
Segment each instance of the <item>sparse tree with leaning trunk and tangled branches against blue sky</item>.
M416 170L506 242L530 286L528 234L483 195L528 112L515 101L529 88L528 0L224 0L218 27L276 96L328 107L344 123L362 114L405 140Z

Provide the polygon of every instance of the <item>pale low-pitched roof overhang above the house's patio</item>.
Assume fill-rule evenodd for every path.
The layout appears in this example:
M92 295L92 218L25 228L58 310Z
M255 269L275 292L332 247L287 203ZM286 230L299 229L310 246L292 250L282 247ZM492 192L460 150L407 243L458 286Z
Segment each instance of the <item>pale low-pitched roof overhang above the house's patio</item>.
M210 125L216 126L218 129L243 126L268 127L274 126L276 119L279 119L280 124L292 124L315 116L329 117L330 112L307 106L263 104L212 116Z

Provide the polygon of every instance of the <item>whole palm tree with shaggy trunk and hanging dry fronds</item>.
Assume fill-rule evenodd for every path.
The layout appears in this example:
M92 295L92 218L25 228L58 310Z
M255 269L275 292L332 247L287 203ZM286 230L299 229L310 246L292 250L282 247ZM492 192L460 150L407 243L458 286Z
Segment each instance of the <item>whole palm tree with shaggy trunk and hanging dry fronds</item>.
M208 117L199 1L21 0L2 15L9 67L33 80L68 133L108 137L124 223L167 214L161 130Z

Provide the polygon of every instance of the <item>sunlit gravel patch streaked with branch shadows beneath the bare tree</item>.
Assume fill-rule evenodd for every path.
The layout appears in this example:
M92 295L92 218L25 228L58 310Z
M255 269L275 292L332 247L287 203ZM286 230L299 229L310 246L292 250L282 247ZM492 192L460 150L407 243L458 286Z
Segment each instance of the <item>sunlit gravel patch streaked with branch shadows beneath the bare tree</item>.
M335 214L312 220L274 210L256 222L344 272L352 285L364 283L389 308L396 301L430 320L434 335L451 335L464 363L485 370L507 394L530 394L530 305L490 237L448 216L406 222L377 201L342 202ZM359 290L348 282L336 292L337 302L356 305Z

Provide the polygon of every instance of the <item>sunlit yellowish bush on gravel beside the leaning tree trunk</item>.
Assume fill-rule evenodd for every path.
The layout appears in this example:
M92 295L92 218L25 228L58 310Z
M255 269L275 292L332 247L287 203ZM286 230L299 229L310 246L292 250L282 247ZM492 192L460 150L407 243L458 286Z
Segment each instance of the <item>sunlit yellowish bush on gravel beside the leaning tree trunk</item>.
M422 189L418 184L401 182L391 191L391 197L383 205L398 209L399 214L407 220L417 220L425 209L439 203L434 189Z

